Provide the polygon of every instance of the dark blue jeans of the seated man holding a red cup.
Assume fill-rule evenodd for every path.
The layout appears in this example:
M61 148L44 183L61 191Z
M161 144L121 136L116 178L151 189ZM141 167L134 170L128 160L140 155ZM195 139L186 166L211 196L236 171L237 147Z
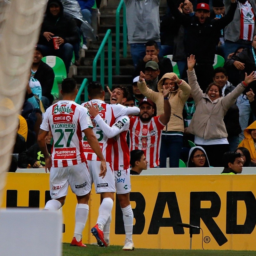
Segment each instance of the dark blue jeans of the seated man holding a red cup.
M62 44L60 45L60 49L56 50L53 47L47 45L38 44L38 46L42 49L43 56L57 56L63 60L68 76L70 63L73 57L73 45L69 43L64 45Z

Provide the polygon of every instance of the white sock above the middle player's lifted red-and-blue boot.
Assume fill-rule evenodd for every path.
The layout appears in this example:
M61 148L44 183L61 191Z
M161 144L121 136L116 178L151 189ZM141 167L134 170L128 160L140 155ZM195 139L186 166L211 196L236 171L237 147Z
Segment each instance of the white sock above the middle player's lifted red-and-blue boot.
M113 200L110 197L103 198L102 203L100 204L99 216L97 220L98 227L102 231L105 224L108 221L112 208L113 208Z

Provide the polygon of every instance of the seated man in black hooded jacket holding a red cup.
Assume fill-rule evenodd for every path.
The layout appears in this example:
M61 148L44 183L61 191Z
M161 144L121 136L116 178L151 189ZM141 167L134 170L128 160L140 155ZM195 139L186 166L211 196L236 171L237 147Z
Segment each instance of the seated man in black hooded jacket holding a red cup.
M79 41L76 21L63 12L60 0L49 0L46 7L39 41L37 46L42 49L43 56L60 57L66 67L67 75L73 56L73 45ZM59 49L54 49L52 37L58 37Z

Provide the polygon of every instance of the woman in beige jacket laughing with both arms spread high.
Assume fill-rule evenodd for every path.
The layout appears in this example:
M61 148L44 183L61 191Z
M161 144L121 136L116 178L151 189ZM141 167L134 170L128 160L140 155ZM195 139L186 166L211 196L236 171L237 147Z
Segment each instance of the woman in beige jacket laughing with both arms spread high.
M196 146L204 148L211 166L222 166L221 157L216 157L216 152L222 156L228 151L228 133L223 121L228 109L236 102L237 97L245 90L252 81L255 81L254 72L245 73L245 79L227 96L222 97L220 85L212 83L206 92L200 89L196 79L194 66L195 56L188 58L188 83L191 87L191 94L196 103L196 111L188 126L188 132L195 135Z

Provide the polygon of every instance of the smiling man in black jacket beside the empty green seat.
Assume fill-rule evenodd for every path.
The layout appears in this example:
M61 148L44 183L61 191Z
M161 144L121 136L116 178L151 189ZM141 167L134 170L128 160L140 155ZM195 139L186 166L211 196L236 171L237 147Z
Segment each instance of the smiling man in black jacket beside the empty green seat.
M42 49L40 47L35 48L33 62L31 64L31 76L36 78L42 87L42 103L46 110L51 106L53 101L52 85L54 82L53 69L42 61Z

